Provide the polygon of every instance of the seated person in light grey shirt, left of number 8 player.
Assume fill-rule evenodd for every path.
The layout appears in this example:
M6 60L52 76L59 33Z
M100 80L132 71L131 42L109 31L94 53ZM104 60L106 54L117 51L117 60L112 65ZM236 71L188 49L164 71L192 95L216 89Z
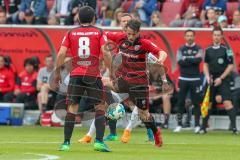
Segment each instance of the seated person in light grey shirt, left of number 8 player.
M49 93L53 95L50 91L49 87L49 77L54 68L54 60L52 55L48 55L45 57L45 67L40 68L37 77L37 90L40 91L38 93L38 107L41 113L45 112L47 109Z

